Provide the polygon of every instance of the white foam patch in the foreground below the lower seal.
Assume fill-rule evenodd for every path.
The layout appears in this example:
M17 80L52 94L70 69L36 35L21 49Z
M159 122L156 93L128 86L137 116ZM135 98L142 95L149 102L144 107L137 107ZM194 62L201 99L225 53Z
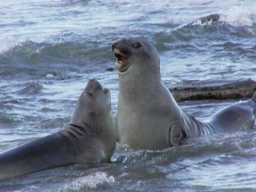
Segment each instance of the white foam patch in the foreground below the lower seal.
M115 183L115 178L112 175L108 175L105 172L95 172L85 177L76 179L75 181L67 184L61 188L64 191L76 191L79 189L95 189L102 184L113 184Z

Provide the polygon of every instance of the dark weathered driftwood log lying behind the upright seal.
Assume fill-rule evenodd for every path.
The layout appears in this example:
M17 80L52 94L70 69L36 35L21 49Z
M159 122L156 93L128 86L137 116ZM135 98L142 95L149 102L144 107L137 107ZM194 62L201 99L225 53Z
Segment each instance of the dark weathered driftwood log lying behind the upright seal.
M189 86L169 88L177 102L203 99L250 98L256 91L256 82L252 79L217 86Z

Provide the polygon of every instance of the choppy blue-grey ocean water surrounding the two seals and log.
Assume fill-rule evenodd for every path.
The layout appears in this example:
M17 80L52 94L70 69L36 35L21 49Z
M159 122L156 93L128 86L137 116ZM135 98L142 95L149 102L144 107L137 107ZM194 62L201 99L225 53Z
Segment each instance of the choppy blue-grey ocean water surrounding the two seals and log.
M220 14L218 22L200 17ZM111 91L111 44L154 44L166 86L256 75L256 1L12 0L0 3L0 151L63 129L88 79ZM113 67L114 70L106 70ZM179 103L200 120L238 100ZM113 163L0 182L0 191L256 191L256 131L205 136L163 151L117 147Z

